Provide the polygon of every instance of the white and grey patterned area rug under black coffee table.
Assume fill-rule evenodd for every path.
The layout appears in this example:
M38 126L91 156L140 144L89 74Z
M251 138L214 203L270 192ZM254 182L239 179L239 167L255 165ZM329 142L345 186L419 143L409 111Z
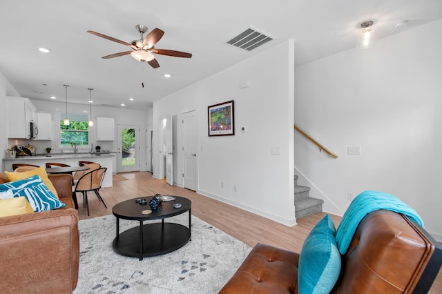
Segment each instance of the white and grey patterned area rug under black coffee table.
M189 214L166 222L188 226ZM138 224L120 219L120 233ZM113 251L115 216L81 220L74 293L218 293L251 248L193 215L191 230L192 239L182 248L140 261Z

